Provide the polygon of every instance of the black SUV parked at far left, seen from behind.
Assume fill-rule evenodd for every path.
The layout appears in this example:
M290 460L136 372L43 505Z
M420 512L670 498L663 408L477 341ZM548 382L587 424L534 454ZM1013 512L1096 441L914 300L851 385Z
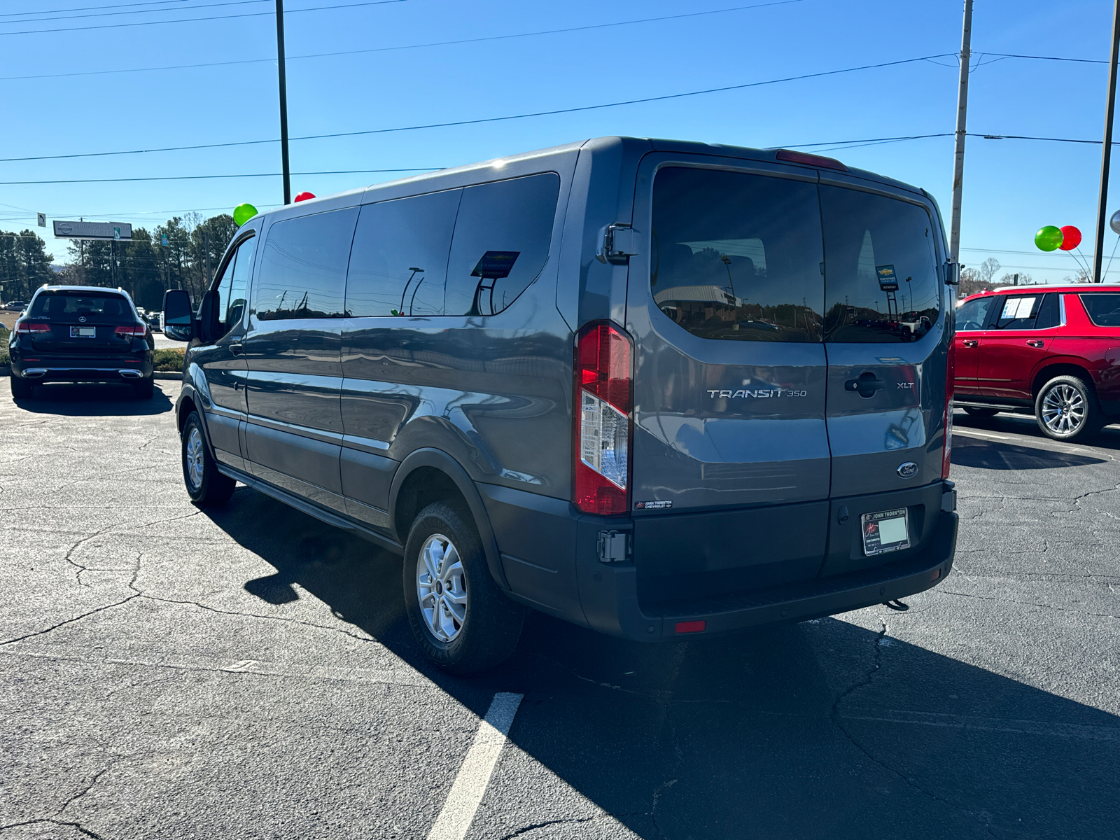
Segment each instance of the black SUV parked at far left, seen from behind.
M123 289L44 286L8 342L13 399L43 382L129 382L152 395L156 343Z

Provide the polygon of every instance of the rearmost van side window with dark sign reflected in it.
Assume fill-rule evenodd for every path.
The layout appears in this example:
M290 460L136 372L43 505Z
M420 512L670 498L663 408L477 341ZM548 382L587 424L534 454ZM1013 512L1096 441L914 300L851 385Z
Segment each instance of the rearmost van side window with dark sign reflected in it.
M516 300L549 259L559 195L556 172L463 190L444 315L496 315Z

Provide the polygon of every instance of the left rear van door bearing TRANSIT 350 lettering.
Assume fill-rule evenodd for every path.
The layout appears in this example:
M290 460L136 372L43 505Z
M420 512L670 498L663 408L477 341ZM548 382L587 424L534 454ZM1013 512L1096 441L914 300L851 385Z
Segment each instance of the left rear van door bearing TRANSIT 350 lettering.
M638 176L651 253L631 259L626 325L640 597L811 578L830 482L816 172L659 157Z

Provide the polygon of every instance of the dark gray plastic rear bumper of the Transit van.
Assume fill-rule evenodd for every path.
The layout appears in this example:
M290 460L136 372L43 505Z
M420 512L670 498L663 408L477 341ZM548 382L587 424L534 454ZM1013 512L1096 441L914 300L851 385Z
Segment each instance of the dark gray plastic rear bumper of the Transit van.
M926 548L895 563L724 598L662 601L644 608L638 604L633 564L596 562L596 569L580 569L584 613L595 629L636 642L661 642L860 609L915 595L944 580L953 566L958 521L955 512L940 512ZM704 623L700 633L678 632L679 624L697 622Z

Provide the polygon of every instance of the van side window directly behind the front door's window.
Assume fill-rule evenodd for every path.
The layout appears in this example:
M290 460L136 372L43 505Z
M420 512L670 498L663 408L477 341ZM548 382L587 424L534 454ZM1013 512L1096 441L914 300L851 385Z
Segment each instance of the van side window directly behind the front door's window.
M357 207L277 222L256 271L261 320L340 318Z

